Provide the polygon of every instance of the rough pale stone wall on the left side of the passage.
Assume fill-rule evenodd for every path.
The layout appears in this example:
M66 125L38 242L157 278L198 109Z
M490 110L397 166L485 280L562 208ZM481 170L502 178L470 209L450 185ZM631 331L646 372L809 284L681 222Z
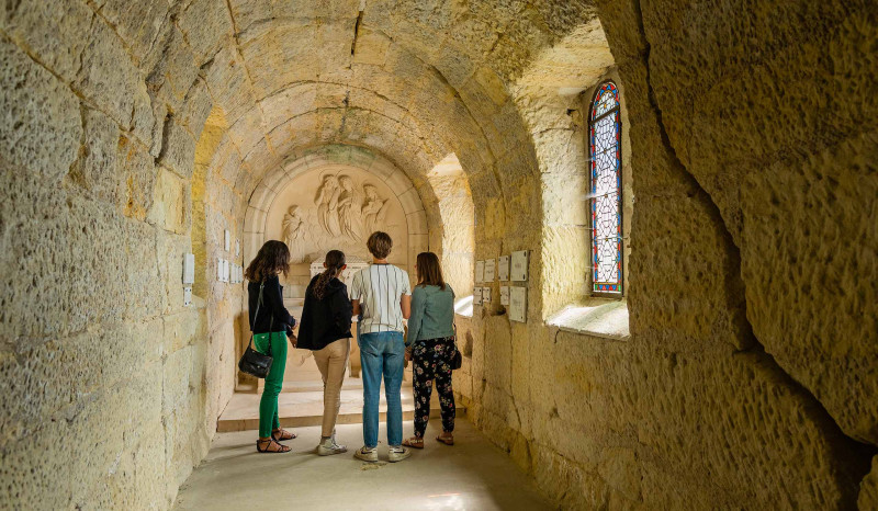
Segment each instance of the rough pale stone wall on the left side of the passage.
M215 430L181 284L210 99L158 70L169 15L0 8L0 507L167 508Z

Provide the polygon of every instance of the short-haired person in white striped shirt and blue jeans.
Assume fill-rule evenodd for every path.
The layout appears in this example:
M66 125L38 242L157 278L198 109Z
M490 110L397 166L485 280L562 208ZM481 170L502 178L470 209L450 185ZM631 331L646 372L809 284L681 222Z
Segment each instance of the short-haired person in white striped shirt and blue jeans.
M405 340L403 320L412 313L412 284L405 270L387 262L393 240L386 232L373 232L365 243L372 264L353 275L350 298L357 323L363 375L363 446L353 455L378 462L378 427L381 377L387 400L390 462L412 455L403 447L403 385Z

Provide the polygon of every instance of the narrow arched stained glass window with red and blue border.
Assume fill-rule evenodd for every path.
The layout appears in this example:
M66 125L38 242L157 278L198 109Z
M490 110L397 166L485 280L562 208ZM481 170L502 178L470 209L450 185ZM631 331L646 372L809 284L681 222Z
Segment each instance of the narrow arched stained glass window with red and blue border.
M592 291L621 293L622 125L615 83L608 81L598 88L590 110Z

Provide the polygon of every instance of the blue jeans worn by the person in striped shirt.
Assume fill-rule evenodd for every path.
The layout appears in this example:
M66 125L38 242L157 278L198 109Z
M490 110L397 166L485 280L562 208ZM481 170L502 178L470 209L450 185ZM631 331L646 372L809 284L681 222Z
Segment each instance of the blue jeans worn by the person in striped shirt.
M378 445L379 402L381 375L384 375L384 395L387 399L387 444L403 443L403 405L399 388L403 386L405 341L402 332L361 333L360 362L363 372L363 443Z

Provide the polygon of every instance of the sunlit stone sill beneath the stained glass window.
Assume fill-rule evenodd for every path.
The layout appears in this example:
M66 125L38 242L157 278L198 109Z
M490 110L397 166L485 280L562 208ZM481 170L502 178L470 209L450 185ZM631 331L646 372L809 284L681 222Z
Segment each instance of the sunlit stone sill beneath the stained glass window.
M628 303L622 299L587 298L567 305L545 321L562 331L624 341L631 337L628 328Z

